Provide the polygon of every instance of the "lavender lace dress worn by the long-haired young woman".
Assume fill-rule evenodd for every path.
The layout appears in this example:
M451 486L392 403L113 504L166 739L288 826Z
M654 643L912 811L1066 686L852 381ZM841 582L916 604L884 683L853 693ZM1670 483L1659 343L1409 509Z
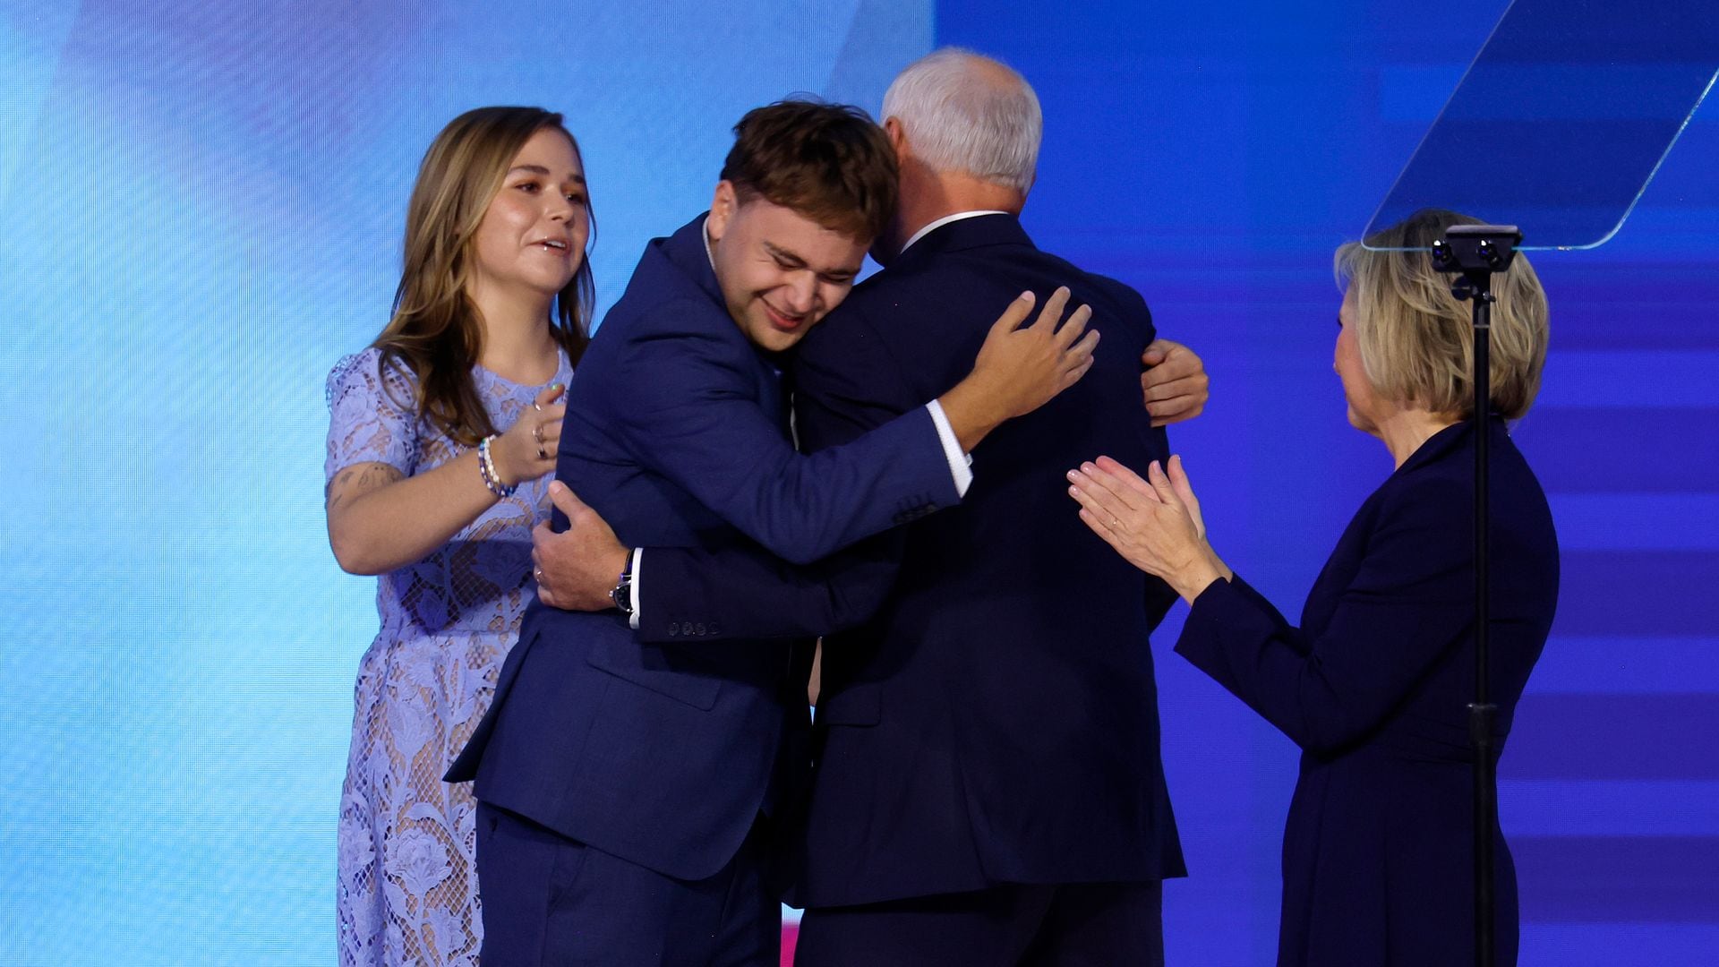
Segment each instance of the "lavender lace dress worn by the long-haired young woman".
M406 475L462 447L416 425L409 373L378 373L380 351L328 373L328 480L354 463ZM552 382L567 384L566 354ZM388 392L383 392L387 379ZM483 368L478 394L505 428L541 392ZM423 561L382 575L382 631L358 668L352 747L340 793L337 910L342 965L478 962L483 921L473 864L469 785L442 773L488 707L495 674L535 594L531 528L547 518L548 477L528 480Z

